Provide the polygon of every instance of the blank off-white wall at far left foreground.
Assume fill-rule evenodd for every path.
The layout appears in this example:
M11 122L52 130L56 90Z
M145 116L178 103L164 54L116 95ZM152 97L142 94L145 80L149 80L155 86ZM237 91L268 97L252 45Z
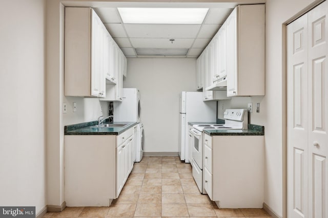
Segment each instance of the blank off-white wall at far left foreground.
M0 205L46 205L45 2L6 0L0 14Z

